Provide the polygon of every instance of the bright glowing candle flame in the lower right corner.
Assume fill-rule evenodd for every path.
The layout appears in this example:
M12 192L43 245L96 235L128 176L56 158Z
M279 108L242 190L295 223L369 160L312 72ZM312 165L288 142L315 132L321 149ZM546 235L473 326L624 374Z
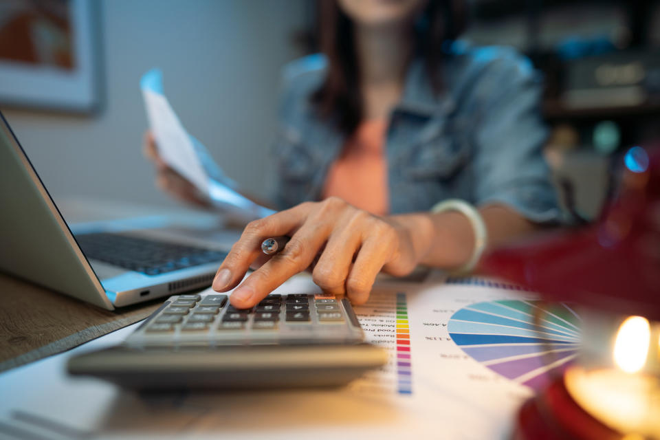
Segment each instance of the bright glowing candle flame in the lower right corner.
M648 356L651 327L646 318L628 316L619 327L614 344L614 362L626 373L637 373Z

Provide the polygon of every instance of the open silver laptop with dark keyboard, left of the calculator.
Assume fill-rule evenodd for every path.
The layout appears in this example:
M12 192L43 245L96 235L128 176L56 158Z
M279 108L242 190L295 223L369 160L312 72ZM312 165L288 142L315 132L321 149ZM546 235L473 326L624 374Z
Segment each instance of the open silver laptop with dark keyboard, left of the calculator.
M208 287L228 248L162 221L69 228L2 113L0 207L0 271L109 310Z

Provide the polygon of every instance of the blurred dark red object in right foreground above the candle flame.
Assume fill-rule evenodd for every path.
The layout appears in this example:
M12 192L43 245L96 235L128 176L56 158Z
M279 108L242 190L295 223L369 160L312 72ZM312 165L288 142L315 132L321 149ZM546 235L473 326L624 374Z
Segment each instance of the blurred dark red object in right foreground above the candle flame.
M626 155L619 194L600 221L494 250L484 272L547 300L660 320L660 152L635 148L643 157Z

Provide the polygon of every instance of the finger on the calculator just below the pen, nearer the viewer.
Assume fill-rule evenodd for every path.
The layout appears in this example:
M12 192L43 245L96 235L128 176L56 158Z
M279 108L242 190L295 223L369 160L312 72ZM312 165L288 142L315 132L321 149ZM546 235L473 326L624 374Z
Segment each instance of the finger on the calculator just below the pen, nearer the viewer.
M237 308L252 307L289 278L303 272L327 240L330 225L307 222L293 234L282 252L253 272L230 298Z

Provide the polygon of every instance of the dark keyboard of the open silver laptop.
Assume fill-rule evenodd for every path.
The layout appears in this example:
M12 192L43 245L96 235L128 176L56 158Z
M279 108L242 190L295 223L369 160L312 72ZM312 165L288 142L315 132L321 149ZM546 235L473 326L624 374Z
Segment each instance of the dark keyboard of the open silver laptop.
M221 261L227 256L218 250L107 232L76 235L76 241L88 259L152 276Z

